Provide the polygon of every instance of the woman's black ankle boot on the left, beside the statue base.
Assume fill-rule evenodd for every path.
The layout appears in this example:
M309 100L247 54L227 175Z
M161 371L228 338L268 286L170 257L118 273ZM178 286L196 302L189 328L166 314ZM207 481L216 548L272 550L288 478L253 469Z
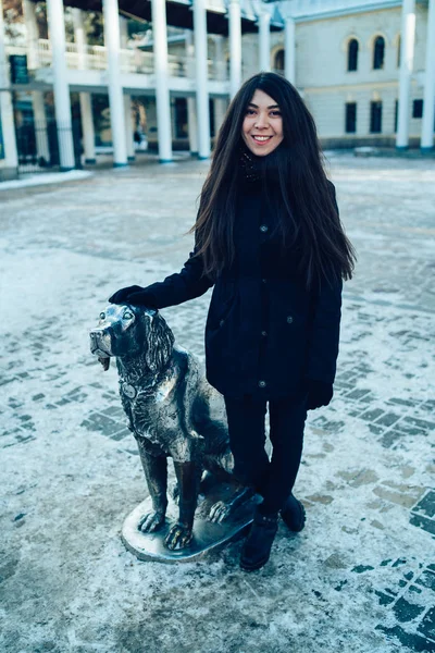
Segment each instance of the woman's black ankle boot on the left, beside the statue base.
M241 569L253 571L266 564L277 528L277 514L264 516L258 509L256 510L251 530L241 549Z

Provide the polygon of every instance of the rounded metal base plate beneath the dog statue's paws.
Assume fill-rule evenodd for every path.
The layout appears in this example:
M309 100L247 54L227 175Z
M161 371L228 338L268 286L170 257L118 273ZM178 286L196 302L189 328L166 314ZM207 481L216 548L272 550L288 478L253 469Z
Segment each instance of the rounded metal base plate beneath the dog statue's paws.
M244 534L252 522L259 496L253 496L235 509L222 523L214 523L207 519L212 505L217 501L225 501L231 494L229 485L220 485L212 494L199 497L199 505L195 514L194 537L188 546L171 551L164 545L164 539L178 515L178 506L170 501L166 521L157 532L142 533L139 528L141 517L152 512L151 497L140 503L125 519L122 529L122 541L126 549L139 560L154 563L191 563L198 560L206 553L216 550L232 540L237 540Z

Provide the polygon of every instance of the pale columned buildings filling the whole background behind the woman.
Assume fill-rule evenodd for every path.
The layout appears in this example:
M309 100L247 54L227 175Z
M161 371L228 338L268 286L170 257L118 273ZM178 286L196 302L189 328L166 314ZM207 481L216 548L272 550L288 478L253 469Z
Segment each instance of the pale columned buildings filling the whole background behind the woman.
M134 38L126 0L103 0L99 45L86 2L69 4L47 0L47 29L33 0L18 35L0 23L0 180L91 164L104 145L114 165L145 144L162 162L174 148L207 159L260 70L296 85L323 147L433 149L435 0L145 0L150 28Z

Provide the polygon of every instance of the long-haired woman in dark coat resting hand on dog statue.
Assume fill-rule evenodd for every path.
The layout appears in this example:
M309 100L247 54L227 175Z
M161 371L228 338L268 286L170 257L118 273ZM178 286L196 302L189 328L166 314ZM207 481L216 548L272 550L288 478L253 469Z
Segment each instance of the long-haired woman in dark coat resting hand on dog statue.
M240 558L252 570L269 559L279 513L293 531L304 525L291 489L307 409L333 396L341 280L355 262L313 119L285 78L254 75L232 101L192 231L179 273L110 301L164 308L214 285L207 378L225 398L235 476L263 496Z

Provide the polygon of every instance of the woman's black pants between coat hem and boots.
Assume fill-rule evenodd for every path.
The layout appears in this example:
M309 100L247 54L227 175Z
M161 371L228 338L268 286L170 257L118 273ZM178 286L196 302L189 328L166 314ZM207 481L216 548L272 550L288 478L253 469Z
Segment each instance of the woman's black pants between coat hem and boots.
M271 460L264 448L266 402L246 395L243 398L225 397L225 406L234 476L263 496L262 513L276 513L291 492L298 473L307 397L269 402Z

